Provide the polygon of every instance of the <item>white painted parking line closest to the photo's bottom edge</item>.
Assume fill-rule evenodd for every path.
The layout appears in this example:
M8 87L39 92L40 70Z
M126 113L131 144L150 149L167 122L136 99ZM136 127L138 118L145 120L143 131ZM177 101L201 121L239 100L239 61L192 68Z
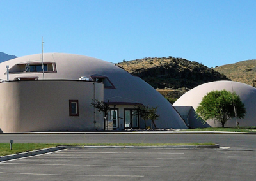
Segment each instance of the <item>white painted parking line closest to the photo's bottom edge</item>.
M144 177L144 175L86 175L86 174L49 174L49 173L10 173L10 172L0 172L0 174L16 174L16 175L49 175L49 176L76 176L76 177Z

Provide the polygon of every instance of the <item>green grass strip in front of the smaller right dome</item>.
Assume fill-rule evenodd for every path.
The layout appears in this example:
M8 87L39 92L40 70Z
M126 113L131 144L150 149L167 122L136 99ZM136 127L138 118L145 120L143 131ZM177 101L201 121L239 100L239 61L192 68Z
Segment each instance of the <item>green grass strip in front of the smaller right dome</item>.
M226 132L246 132L256 133L256 127L208 127L196 129L184 129L180 131L226 131Z

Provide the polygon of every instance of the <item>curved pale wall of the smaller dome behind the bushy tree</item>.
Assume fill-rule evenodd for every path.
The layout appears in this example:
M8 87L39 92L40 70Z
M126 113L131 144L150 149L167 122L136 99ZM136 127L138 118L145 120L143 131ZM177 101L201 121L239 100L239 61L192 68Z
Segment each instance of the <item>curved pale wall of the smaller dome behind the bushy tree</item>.
M241 101L244 103L246 108L246 116L244 119L237 119L239 122L239 126L256 126L256 88L250 85L246 85L240 82L232 82L232 81L216 81L210 83L204 83L191 89L186 92L186 94L182 95L173 106L193 106L196 110L199 103L202 101L202 98L211 91L234 91L237 95L240 96ZM214 120L207 120L207 123L211 127L220 127L221 124L219 122L214 122ZM225 127L235 127L236 119L228 120L225 124Z

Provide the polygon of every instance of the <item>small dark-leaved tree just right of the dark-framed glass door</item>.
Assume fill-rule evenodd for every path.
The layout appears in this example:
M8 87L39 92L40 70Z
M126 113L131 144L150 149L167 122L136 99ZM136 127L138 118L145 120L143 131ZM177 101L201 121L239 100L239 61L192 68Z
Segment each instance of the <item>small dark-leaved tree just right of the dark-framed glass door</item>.
M140 117L142 117L142 119L144 120L145 127L147 126L146 120L149 119L152 121L152 124L154 124L154 127L157 128L155 124L155 120L158 120L159 117L159 115L156 114L157 107L150 108L149 105L137 105L135 106L135 108L138 110L138 114L140 115Z

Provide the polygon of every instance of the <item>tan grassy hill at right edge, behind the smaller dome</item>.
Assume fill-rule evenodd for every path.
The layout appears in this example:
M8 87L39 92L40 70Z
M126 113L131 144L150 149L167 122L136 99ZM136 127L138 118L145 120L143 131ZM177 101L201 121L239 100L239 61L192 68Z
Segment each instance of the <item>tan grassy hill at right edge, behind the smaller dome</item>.
M256 60L241 61L214 68L236 82L256 87Z

